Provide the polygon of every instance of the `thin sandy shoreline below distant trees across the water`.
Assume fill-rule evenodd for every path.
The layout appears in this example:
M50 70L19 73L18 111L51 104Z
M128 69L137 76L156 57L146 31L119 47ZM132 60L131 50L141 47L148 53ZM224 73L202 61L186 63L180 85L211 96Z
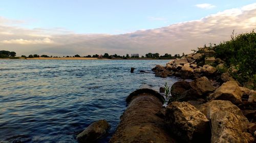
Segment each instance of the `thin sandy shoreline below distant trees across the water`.
M85 58L85 57L60 57L60 58L23 58L23 57L16 57L16 58L2 58L0 60L172 60L172 59L154 59L154 58Z

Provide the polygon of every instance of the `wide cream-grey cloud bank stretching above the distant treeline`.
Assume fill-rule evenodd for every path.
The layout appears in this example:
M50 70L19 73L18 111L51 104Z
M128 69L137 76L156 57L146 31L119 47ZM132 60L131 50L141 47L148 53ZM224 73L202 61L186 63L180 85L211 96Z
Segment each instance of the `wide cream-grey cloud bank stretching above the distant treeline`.
M190 53L208 43L230 40L230 34L246 33L256 27L256 3L230 9L198 20L172 24L152 30L120 35L75 34L61 28L26 29L0 25L0 49L17 55L121 54L147 52Z

